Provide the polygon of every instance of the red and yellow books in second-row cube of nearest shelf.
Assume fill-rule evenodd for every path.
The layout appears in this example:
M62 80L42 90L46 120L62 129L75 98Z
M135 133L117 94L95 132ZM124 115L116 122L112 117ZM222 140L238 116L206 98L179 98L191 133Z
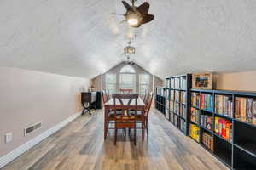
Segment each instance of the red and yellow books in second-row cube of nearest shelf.
M232 141L232 122L230 120L215 117L215 133L218 133L219 136L222 136L224 139Z

